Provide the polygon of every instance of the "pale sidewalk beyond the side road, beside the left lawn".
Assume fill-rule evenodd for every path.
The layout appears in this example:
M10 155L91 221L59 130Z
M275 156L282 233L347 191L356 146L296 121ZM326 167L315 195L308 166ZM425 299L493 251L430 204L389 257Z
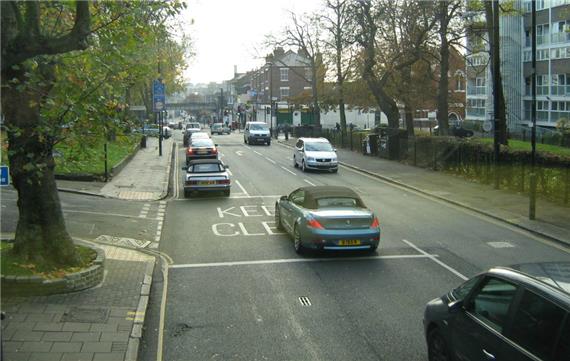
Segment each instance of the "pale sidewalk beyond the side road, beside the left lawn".
M57 180L58 189L63 192L128 200L162 199L168 194L173 144L172 138L164 140L162 156L159 156L158 138L148 137L146 148L141 148L109 182Z

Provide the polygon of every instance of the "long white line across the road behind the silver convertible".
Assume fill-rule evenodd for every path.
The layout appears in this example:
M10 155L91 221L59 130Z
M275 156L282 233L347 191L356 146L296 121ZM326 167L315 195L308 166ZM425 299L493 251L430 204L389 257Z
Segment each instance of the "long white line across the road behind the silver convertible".
M268 259L259 261L236 261L236 262L213 262L213 263L186 263L170 265L170 268L208 268L208 267L231 267L231 266L254 266L264 264L282 263L309 263L309 262L336 262L336 261L366 261L380 259L406 259L406 258L435 258L431 254L406 254L394 256L369 256L369 257L346 257L346 258L285 258Z

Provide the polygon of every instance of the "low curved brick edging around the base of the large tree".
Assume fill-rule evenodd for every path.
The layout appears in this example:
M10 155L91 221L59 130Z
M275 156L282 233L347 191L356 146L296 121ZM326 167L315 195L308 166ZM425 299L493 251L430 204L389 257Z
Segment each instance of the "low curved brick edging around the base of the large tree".
M103 281L105 270L105 252L85 242L79 241L76 244L94 251L95 257L88 265L81 269L70 268L51 272L47 277L38 274L21 275L10 271L8 267L2 267L0 280L2 296L46 296L81 291L100 284ZM2 248L4 253L11 247L3 245ZM4 256L2 261L6 262ZM33 265L26 266L30 269L34 268Z

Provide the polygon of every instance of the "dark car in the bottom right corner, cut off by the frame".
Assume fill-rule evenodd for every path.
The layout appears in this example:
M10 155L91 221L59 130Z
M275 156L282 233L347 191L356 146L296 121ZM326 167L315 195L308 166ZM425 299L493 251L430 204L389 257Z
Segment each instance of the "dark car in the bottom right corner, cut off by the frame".
M430 361L570 360L570 262L494 267L424 313Z

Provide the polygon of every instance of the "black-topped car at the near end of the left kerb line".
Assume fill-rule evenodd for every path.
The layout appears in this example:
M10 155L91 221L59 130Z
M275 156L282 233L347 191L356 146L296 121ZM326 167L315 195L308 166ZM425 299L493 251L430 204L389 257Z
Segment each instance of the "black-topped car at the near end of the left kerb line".
M193 160L186 169L184 180L184 197L188 198L192 192L223 192L230 195L230 175L218 159Z

